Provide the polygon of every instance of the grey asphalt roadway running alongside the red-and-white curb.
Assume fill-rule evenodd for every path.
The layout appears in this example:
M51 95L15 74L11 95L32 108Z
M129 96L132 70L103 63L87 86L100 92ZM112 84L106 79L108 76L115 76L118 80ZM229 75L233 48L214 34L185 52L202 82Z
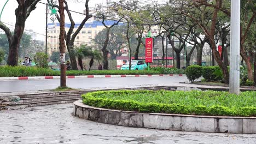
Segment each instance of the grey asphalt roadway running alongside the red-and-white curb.
M186 76L152 76L152 77L111 77L67 79L67 86L78 89L87 88L127 88L168 85L188 81ZM60 86L60 79L50 80L9 80L0 81L0 92L21 92L54 89Z

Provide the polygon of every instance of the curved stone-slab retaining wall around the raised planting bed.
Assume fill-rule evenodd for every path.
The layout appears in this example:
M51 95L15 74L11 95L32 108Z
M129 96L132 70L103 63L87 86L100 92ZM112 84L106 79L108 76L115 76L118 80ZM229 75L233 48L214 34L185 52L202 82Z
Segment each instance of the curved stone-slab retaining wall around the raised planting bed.
M74 116L99 123L179 131L256 134L256 117L138 113L92 107L84 105L82 100L75 101L73 104Z

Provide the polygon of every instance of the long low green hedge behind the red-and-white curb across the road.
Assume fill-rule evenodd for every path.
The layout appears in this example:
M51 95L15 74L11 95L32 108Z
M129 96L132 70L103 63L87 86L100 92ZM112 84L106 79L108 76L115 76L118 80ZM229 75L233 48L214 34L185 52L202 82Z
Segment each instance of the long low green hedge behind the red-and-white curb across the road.
M169 71L168 74L173 71ZM161 71L157 70L68 70L66 75L154 75L162 74ZM0 67L0 77L13 77L13 76L58 76L60 71L54 71L46 68L37 67Z

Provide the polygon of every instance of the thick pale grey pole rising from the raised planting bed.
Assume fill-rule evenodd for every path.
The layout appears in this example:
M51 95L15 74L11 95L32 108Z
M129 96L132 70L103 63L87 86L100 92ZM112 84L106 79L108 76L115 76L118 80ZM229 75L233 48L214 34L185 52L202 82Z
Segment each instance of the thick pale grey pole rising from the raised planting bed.
M231 1L231 46L229 92L240 93L240 0Z

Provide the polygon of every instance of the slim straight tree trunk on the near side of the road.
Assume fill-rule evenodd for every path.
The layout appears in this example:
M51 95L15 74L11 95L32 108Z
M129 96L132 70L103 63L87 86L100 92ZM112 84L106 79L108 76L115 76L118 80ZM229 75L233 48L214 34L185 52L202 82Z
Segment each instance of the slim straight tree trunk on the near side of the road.
M63 0L59 0L60 8L60 55L63 57L60 57L61 59L61 79L60 79L60 86L61 87L67 87L66 85L66 64L65 64L65 14L64 14L64 4Z

